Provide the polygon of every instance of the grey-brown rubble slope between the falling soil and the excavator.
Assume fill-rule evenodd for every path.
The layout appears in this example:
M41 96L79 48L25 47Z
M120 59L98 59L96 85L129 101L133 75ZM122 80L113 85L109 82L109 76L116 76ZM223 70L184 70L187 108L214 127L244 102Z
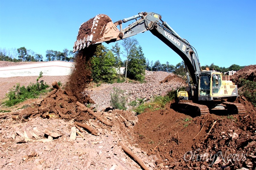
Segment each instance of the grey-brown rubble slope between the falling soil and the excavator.
M113 92L113 87L120 88L125 91L127 103L136 99L144 99L149 101L154 96L165 95L168 91L184 86L184 81L180 82L180 78L175 78L172 81L160 83L166 77L172 77L174 74L163 71L145 71L144 83L113 83L102 84L99 87L93 88L93 91L88 91L93 101L96 102L97 110L101 111L110 107L110 93ZM177 81L176 81L177 80ZM128 106L128 105L127 105ZM128 109L130 106L128 106Z

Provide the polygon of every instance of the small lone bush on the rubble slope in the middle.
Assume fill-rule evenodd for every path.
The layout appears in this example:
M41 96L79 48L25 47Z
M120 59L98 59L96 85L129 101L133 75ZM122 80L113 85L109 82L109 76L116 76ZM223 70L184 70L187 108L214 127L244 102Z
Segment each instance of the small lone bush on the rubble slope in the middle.
M115 109L126 110L125 104L127 97L124 95L125 91L120 88L113 88L113 93L110 94L110 105Z

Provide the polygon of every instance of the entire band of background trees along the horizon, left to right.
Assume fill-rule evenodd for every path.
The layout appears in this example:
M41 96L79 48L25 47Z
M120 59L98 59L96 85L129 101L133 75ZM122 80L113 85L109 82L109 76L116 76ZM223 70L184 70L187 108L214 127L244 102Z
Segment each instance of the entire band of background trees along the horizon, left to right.
M180 62L176 65L172 65L169 62L161 64L159 60L149 62L145 58L143 49L139 45L139 42L135 38L126 38L121 42L122 49L117 42L109 50L104 45L98 45L94 56L91 59L92 74L94 82L114 82L114 81L126 81L126 77L137 81L143 81L145 78L145 70L148 71L165 71L184 76L186 74L186 67L184 62ZM47 50L46 56L37 54L32 50L27 50L25 47L12 48L9 50L0 49L0 60L2 61L69 61L75 62L77 53L64 49L63 51ZM122 60L121 56L125 59ZM124 75L122 79L117 72L120 71L120 67L125 67ZM220 71L222 73L227 71L238 71L244 66L236 64L231 65L228 68L219 67L212 63L211 65L205 65L201 67L203 70L209 68L209 70ZM122 74L122 73L121 73ZM121 80L122 79L122 80Z

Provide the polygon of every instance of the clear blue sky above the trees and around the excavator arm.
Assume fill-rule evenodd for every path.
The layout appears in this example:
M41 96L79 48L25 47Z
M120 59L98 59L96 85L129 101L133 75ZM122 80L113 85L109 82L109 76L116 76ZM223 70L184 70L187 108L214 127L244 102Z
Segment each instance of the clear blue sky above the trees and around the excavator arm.
M0 48L24 46L44 57L47 50L73 50L90 18L107 14L115 22L139 12L161 14L195 47L202 66L256 64L256 0L0 0ZM134 38L149 61L182 61L149 31Z

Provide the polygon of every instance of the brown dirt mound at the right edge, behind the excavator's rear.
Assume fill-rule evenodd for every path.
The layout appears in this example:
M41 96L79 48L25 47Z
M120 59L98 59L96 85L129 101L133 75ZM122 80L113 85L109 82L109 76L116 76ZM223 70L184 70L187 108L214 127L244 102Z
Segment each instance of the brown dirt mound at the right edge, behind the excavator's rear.
M256 82L256 65L245 66L230 78L234 83L238 83L239 79L246 79L252 82Z

